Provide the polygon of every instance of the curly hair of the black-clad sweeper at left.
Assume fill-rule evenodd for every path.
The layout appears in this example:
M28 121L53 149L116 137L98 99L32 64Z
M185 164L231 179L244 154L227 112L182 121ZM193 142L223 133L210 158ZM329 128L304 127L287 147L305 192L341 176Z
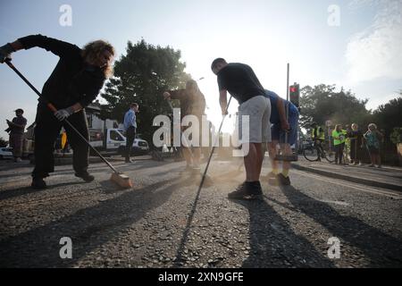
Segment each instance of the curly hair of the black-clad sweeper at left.
M114 47L109 42L99 39L89 42L82 48L82 57L94 63L105 51L108 51L113 56L115 55ZM110 78L113 75L113 67L110 63L107 64L103 70L105 72L105 78Z

